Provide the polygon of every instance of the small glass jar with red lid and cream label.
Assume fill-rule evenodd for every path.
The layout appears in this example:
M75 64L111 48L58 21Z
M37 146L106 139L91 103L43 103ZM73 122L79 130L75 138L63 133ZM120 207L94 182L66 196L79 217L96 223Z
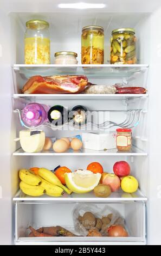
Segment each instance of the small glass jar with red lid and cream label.
M131 129L117 129L117 149L119 151L130 151L131 142Z

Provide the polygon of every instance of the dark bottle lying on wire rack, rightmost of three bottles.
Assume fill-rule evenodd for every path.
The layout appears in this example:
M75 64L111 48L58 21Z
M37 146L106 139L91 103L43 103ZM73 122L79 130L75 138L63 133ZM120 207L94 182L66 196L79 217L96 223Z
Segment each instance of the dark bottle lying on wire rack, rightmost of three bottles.
M70 112L70 119L73 119L75 125L83 125L87 123L87 111L85 106L75 106Z

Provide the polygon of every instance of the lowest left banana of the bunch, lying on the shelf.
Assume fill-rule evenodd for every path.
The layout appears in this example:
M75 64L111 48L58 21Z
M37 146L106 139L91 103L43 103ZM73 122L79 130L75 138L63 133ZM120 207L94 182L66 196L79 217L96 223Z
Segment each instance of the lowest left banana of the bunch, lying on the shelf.
M20 182L20 188L23 193L28 194L28 196L39 197L42 196L46 192L43 187L40 186L32 186L23 181Z

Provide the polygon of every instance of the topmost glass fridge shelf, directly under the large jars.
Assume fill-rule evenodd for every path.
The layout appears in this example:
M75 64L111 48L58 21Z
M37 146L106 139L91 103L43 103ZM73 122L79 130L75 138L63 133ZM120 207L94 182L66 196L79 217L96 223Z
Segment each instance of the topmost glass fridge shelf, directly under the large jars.
M23 74L26 78L35 75L52 76L52 75L85 75L88 78L96 77L130 77L138 72L148 70L147 64L72 64L72 65L29 65L14 64L12 66L15 72Z

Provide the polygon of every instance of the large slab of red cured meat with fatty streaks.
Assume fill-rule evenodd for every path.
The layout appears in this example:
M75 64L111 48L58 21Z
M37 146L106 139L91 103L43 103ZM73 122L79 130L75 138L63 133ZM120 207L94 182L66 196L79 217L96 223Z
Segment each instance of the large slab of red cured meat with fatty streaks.
M86 76L33 76L25 83L24 94L74 94L85 90Z

